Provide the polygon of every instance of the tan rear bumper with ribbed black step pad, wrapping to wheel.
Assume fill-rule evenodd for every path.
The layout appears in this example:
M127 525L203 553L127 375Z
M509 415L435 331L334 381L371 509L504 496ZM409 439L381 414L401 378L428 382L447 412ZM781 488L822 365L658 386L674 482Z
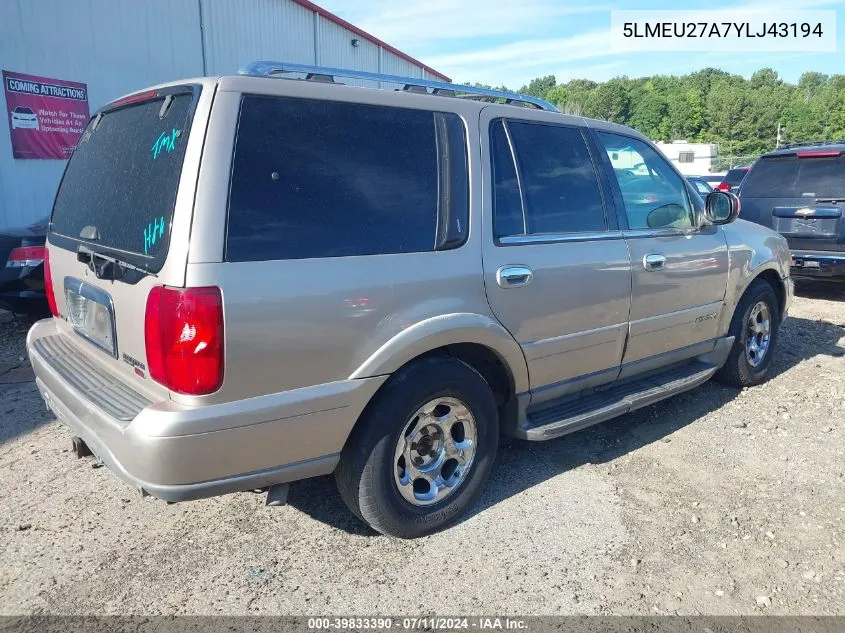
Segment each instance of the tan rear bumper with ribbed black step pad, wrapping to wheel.
M47 406L127 483L166 501L332 472L360 412L385 380L338 381L205 407L146 402L132 419L119 419L83 393L81 383L68 373L73 368L67 355L57 360L44 351L45 345L35 345L60 336L70 338L47 319L36 323L27 337L36 384ZM76 341L71 344L76 347ZM83 347L79 354L86 355ZM98 388L99 394L123 388L125 398L126 385L103 370L95 369L92 376L92 357L85 360L87 380L113 381L111 387Z

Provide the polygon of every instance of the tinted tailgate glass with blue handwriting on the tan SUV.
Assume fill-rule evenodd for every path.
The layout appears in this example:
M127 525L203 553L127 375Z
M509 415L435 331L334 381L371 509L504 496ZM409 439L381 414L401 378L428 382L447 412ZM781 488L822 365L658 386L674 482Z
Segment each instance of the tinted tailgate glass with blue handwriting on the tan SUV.
M51 241L161 269L193 116L193 94L180 90L91 119L56 195Z

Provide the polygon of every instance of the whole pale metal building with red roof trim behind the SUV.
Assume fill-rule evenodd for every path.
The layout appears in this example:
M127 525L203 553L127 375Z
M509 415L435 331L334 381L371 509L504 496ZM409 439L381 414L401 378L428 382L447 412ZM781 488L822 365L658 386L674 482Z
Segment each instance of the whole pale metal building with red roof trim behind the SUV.
M0 2L2 70L86 84L92 113L144 86L233 74L259 59L449 81L308 0ZM13 116L26 108L14 107L6 84L4 78L0 227L48 215L65 165L13 156L13 128L26 127L21 120L32 115Z

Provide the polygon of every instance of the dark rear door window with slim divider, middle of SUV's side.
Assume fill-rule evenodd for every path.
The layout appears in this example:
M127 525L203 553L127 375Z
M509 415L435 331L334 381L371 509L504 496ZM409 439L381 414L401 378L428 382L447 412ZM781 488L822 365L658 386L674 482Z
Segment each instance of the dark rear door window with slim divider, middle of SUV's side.
M598 176L578 128L500 120L490 135L497 238L606 230Z

